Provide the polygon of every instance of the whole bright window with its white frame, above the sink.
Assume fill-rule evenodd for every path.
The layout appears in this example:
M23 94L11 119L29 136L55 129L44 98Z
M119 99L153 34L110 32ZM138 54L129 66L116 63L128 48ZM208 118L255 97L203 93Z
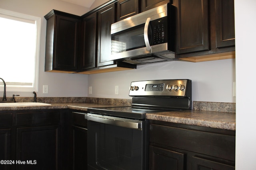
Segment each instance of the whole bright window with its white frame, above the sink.
M0 9L0 25L0 78L6 91L37 92L41 18Z

